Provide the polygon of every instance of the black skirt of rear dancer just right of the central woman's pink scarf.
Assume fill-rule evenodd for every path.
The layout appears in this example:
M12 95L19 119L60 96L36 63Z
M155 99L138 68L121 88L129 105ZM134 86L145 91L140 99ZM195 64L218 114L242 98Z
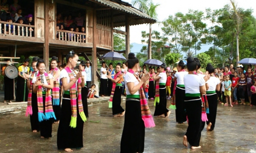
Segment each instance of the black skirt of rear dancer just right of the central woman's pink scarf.
M159 88L162 88L162 89L159 89L160 101L159 101L159 103L156 103L156 109L155 109L154 116L159 116L162 114L164 114L164 116L166 116L167 112L169 111L166 108L166 104L167 104L166 87L165 87L165 85L159 85Z

